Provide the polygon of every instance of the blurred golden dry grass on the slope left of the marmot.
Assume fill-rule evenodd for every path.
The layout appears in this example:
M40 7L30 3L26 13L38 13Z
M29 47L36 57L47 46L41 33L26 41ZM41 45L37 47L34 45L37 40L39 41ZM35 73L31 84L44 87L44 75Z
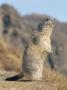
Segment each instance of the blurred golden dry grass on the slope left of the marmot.
M9 47L0 39L0 69L20 71L21 54L19 49Z

